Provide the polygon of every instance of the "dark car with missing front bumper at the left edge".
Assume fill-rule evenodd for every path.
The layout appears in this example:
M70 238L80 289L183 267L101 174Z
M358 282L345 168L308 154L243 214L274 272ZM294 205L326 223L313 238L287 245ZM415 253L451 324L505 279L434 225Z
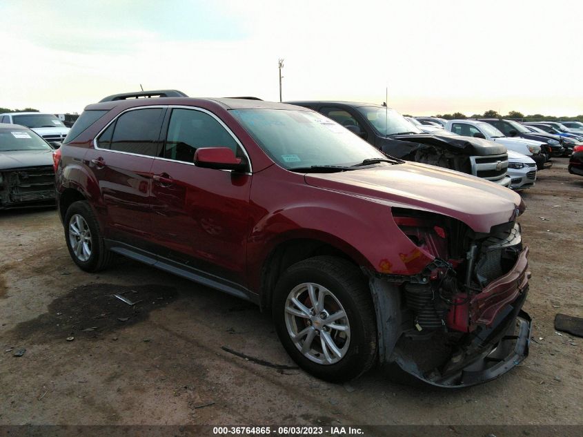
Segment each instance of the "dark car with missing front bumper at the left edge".
M29 128L0 123L0 209L55 204L52 152Z

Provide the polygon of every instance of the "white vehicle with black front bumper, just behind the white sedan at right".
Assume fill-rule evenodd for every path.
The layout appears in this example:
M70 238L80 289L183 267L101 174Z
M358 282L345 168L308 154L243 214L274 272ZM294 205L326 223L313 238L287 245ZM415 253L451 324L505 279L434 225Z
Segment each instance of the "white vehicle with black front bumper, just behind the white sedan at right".
M544 168L546 157L541 153L541 142L524 138L508 138L491 124L470 119L450 120L446 124L446 130L451 130L457 135L485 138L488 141L502 144L508 150L514 150L531 157L537 163L539 170Z

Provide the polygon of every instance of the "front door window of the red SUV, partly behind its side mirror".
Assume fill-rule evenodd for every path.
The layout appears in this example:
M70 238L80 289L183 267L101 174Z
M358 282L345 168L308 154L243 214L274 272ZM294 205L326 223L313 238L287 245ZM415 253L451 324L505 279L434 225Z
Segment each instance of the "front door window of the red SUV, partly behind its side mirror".
M197 148L218 146L228 147L238 157L243 156L235 139L214 117L198 110L172 110L163 157L193 162Z

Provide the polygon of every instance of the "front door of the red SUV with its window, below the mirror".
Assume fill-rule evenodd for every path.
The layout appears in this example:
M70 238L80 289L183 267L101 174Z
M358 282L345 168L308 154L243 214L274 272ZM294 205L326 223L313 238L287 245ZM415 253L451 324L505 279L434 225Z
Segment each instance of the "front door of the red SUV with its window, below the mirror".
M166 262L245 285L250 233L248 173L197 167L197 148L224 146L246 157L221 120L199 108L172 108L152 166L152 229ZM161 262L165 262L161 259Z

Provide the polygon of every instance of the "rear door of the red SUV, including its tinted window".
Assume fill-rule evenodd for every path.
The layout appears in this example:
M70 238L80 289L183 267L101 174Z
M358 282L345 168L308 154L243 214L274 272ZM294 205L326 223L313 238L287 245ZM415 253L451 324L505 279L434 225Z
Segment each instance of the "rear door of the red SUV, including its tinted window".
M152 164L166 108L122 113L95 139L86 162L99 184L107 237L149 249Z

